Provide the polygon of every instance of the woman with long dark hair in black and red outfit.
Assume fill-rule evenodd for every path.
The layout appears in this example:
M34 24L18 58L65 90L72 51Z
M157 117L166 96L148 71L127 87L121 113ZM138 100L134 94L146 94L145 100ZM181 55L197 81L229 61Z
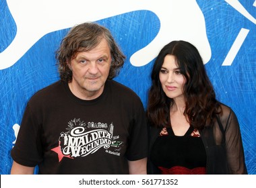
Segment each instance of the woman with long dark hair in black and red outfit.
M238 120L216 99L197 48L166 44L151 78L148 173L247 174Z

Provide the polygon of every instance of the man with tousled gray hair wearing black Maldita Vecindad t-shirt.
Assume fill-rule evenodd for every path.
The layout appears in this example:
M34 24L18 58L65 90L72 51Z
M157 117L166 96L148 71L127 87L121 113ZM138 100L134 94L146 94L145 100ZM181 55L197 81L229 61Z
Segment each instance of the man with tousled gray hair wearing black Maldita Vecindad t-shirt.
M125 56L109 30L71 28L56 57L61 80L28 101L11 174L146 174L146 114L113 80Z

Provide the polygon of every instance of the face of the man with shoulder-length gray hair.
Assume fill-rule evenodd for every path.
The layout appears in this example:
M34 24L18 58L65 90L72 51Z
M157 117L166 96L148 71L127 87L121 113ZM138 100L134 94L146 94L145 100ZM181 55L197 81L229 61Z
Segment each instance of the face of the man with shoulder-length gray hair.
M78 52L69 65L73 73L69 83L71 92L84 100L99 97L104 90L111 61L110 48L105 39L88 52Z

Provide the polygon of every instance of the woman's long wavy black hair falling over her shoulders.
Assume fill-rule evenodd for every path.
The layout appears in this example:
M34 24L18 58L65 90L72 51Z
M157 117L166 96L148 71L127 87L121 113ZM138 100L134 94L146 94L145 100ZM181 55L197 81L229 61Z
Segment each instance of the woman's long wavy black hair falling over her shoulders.
M147 115L150 124L154 126L170 126L170 107L174 105L173 99L166 96L162 89L159 73L166 55L177 59L181 74L186 79L183 88L185 97L184 115L194 128L203 129L210 126L221 113L220 103L210 79L207 77L203 60L195 46L183 40L172 41L166 44L158 54L152 69L152 87L148 95Z

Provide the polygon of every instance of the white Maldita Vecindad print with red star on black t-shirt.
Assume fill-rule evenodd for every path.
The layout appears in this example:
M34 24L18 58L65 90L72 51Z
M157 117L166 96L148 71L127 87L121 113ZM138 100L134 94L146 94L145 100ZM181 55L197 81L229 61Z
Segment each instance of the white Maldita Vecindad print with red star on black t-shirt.
M57 152L59 162L63 157L84 157L97 152L100 148L106 149L108 154L120 156L121 144L119 136L114 136L114 125L105 123L83 122L74 118L68 122L67 132L61 132L59 146L53 148Z

